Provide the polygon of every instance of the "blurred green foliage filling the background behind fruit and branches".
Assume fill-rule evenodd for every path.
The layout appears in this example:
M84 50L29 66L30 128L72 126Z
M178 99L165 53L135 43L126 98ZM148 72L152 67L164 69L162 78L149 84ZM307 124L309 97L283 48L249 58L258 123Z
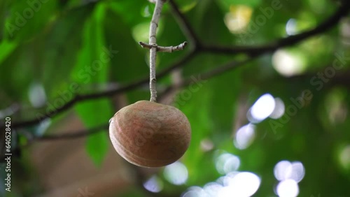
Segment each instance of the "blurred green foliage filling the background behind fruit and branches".
M337 8L337 1L296 0L278 1L279 9L272 9L275 1L179 0L176 3L203 43L226 46L259 45L300 33L315 27ZM73 95L102 92L148 76L148 51L138 42L147 41L153 8L154 4L146 0L2 0L1 109L18 104L20 110L11 115L12 119L33 119L48 112L50 106L62 107ZM272 13L266 14L266 10ZM261 16L265 18L263 24L258 21ZM288 25L292 33L288 32ZM344 42L344 35L350 33L343 28L347 31L343 35L340 29L342 25L338 24L320 36L279 50L302 65L296 75L279 73L276 64L287 67L294 60L278 63L281 57L277 57L277 52L208 80L200 80L200 73L245 56L198 54L183 65L183 78L197 79L195 91L184 87L173 99L174 105L187 115L193 130L190 148L181 160L188 169L188 180L181 186L169 184L160 170L158 176L164 182L160 194L179 194L190 187L215 182L223 176L218 170L218 156L230 153L239 158L236 170L260 177L255 196L276 196L279 181L274 177L274 166L282 160L300 161L304 166L304 179L298 183L299 196L350 196L350 85L344 77L350 73L349 55L346 56L349 42ZM186 36L165 4L158 43L177 45L183 41ZM167 68L186 52L159 53L158 69ZM339 59L339 54L346 57L342 59L342 69L336 70L335 76L326 82L322 81L318 73L330 71L328 68ZM166 76L159 80L158 86L166 87L171 81ZM302 108L288 115L290 106L296 106L293 101L302 98L306 89L311 91L312 99L304 100ZM249 123L246 118L249 108L265 93L280 98L286 114L279 119L268 117L253 123L255 137L248 147L239 149L234 143L236 132ZM128 103L148 100L147 86L124 94ZM90 129L106 124L113 116L113 108L111 99L95 99L80 102L69 112L75 111ZM0 112L1 118L6 116L4 112ZM34 136L50 133L66 115L52 117L51 126L31 126L27 131ZM24 135L18 139L26 142ZM106 132L88 136L87 154L97 165L104 161L109 143ZM24 162L26 154L20 158L18 165L29 168L30 164ZM18 184L12 196L38 195L38 181L33 183L34 178L29 177L35 176L27 176L23 182L28 182ZM123 196L144 196L144 191L130 189Z

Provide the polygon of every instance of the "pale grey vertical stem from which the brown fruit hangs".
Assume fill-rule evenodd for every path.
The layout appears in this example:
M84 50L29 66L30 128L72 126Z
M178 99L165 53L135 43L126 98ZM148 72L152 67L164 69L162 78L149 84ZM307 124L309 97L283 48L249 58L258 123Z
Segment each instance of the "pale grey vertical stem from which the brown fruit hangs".
M151 101L157 101L157 87L155 79L155 60L157 58L157 39L155 35L157 34L157 27L160 18L160 12L163 7L163 0L155 1L155 10L152 16L150 25L150 41L149 44L152 46L150 50L150 91L151 91Z

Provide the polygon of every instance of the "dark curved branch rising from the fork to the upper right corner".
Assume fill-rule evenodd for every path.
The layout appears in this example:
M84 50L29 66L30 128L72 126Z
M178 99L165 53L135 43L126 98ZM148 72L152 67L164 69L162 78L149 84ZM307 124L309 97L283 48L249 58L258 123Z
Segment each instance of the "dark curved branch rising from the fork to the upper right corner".
M324 22L316 26L314 29L309 31L304 31L301 34L296 34L293 36L288 36L286 38L280 38L279 40L261 46L236 46L236 47L225 47L225 46L215 46L207 45L203 46L202 50L206 52L220 53L220 54L237 54L237 53L246 53L251 55L263 54L266 52L274 52L279 48L286 46L291 46L304 41L306 38L311 36L316 36L325 31L328 31L332 27L335 27L342 17L345 17L350 10L350 1L342 1L343 5L339 6L338 10L328 17Z

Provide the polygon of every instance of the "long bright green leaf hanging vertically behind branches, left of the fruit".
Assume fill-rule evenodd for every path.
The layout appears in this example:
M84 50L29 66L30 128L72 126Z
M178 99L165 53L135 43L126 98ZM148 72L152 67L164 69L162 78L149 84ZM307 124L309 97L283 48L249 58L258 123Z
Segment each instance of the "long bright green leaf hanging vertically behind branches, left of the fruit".
M104 41L105 6L99 4L87 21L83 33L84 45L78 55L78 62L72 72L72 78L79 83L81 91L99 91L107 81L113 52L109 52ZM91 86L91 87L89 87ZM79 103L76 112L87 129L106 124L113 115L113 105L108 99ZM90 135L87 138L87 153L99 166L108 150L109 139L106 132Z

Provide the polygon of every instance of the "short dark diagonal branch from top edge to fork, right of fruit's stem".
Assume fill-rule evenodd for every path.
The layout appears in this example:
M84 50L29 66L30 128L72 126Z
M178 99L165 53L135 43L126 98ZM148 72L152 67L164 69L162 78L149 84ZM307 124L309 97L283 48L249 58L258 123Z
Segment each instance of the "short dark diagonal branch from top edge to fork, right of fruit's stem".
M202 46L200 39L195 34L195 30L190 25L190 22L186 17L181 13L179 7L176 5L174 0L169 0L170 8L172 8L172 13L174 14L180 28L182 29L185 36L188 38L188 42L194 46L195 50L199 50Z

